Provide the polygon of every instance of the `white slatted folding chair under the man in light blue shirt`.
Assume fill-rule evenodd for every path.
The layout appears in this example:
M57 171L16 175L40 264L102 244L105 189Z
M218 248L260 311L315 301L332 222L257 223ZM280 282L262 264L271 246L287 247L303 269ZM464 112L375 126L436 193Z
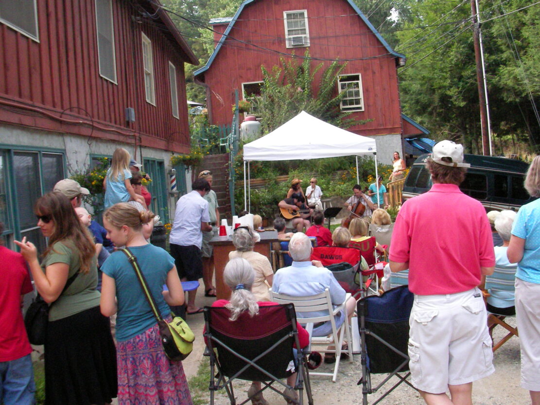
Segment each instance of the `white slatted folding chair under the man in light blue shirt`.
M348 342L348 354L349 361L353 362L353 342L350 339L350 329L347 319L347 309L345 308L345 303L350 298L350 294L347 293L345 301L337 307L334 308L332 305L332 299L330 298L330 291L328 288L325 289L325 292L311 295L311 296L291 296L285 294L278 294L272 291L272 288L269 290L270 300L278 303L293 303L294 310L298 316L296 320L302 325L306 325L306 330L309 332L309 341L312 345L325 345L324 349L319 350L322 353L335 353L336 362L334 365L333 373L315 373L309 372L309 375L328 375L332 376L332 382L336 381L338 376L339 362L341 357L341 345L343 344L343 335L347 335ZM338 328L336 328L334 316L338 314L342 309L345 310L346 319L343 321L340 327L340 333L338 337ZM316 316L312 318L302 318L302 313L305 312L315 312L315 311L328 311L328 315ZM332 333L328 336L312 336L313 325L314 323L330 321L332 324ZM332 344L335 349L328 349L326 346Z

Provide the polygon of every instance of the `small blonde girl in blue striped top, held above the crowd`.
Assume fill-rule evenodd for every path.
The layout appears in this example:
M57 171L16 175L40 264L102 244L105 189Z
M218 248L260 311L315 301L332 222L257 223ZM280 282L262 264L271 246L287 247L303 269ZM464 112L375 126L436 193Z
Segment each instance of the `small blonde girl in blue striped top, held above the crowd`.
M123 147L118 147L112 154L112 164L103 180L105 190L105 208L116 203L137 201L146 210L142 195L136 194L131 185L130 154Z

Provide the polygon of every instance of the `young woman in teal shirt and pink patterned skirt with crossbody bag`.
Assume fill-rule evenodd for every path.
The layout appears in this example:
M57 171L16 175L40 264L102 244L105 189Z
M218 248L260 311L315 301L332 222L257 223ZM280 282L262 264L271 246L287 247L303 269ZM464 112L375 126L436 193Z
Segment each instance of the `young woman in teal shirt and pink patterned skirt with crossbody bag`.
M143 224L154 214L139 212L127 203L115 204L103 214L107 238L125 246L137 258L161 317L171 321L169 306L183 305L184 291L174 259L149 244ZM101 312L116 318L118 404L191 405L184 368L165 356L157 320L137 275L124 252L114 252L102 266ZM168 291L163 291L163 285Z

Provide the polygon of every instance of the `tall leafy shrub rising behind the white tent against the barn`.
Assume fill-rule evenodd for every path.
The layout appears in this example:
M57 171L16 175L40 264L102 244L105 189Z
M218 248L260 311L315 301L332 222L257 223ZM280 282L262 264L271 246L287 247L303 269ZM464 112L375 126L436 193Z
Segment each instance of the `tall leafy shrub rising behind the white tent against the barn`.
M270 71L261 66L264 83L261 95L254 97L253 103L261 116L262 133L273 131L301 111L344 129L366 123L366 120L350 118L350 112L340 111L345 92L336 95L335 84L345 64L333 62L322 70L323 63L313 67L309 50L304 57L301 63L298 59L281 58L281 65L273 66ZM318 81L318 90L314 93L313 86Z

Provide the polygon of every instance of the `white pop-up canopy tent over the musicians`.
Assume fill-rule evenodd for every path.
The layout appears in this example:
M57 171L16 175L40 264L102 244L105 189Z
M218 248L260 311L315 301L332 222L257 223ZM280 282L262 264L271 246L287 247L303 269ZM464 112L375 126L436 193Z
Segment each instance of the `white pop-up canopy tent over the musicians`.
M246 191L249 180L249 162L253 160L294 160L333 158L338 156L356 156L356 183L358 174L358 156L375 156L375 178L377 171L377 148L375 139L363 137L328 124L305 111L299 113L285 124L264 137L244 145L244 209L247 210L247 198L251 190ZM377 195L379 195L379 184ZM251 206L251 201L250 204ZM250 207L251 208L251 207Z

